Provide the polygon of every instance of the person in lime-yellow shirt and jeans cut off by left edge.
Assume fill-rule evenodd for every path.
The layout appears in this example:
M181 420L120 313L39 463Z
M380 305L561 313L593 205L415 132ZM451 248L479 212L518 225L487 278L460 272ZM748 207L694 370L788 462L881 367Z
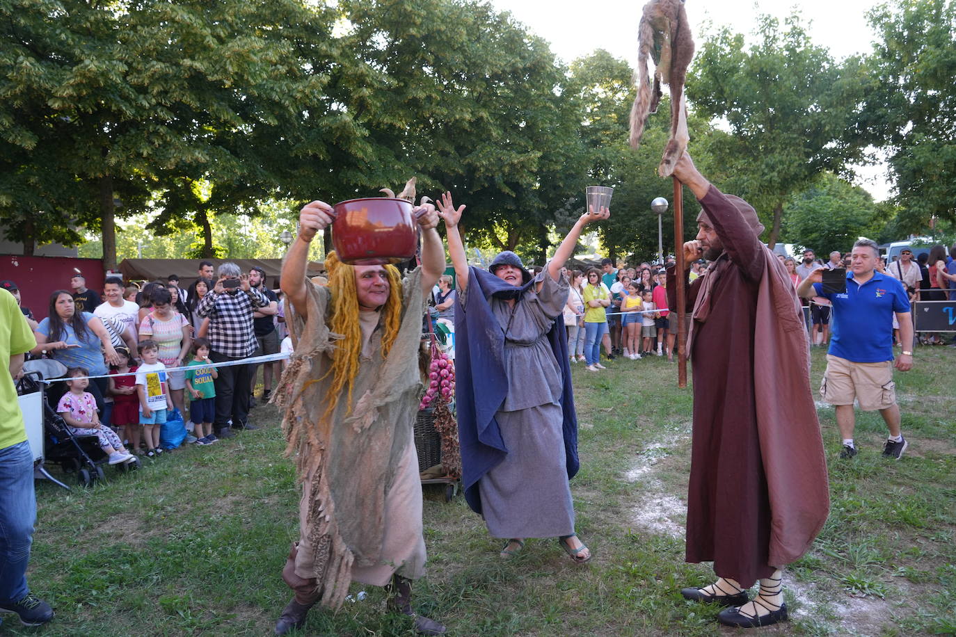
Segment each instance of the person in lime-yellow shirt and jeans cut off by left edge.
M0 613L11 613L24 626L40 626L54 611L27 585L27 564L36 521L33 452L13 379L22 375L24 354L36 347L16 299L0 288Z

